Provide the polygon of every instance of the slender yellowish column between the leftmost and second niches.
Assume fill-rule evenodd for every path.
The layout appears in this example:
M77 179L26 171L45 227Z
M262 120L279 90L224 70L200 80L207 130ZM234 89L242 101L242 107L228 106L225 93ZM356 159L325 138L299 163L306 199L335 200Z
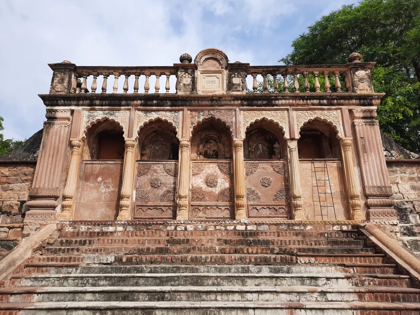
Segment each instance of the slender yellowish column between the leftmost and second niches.
M133 191L134 174L134 147L136 140L134 138L126 139L126 152L123 165L123 182L121 184L120 211L117 220L131 219L131 195Z

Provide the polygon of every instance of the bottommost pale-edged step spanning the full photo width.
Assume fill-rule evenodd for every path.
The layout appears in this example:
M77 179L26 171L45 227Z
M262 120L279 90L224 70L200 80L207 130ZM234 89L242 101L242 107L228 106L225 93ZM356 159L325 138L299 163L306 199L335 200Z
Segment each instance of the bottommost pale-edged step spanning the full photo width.
M90 315L111 314L108 310L118 310L119 315L132 314L291 314L291 310L299 315L354 315L354 310L361 310L363 315L415 315L420 310L420 303L405 302L28 302L28 303L2 303L0 310L25 310L25 315ZM83 310L83 312L81 312ZM379 312L375 312L378 310ZM98 312L100 311L100 312ZM151 312L152 311L152 312ZM366 312L373 311L373 312ZM384 311L388 311L384 313ZM394 312L389 312L394 311Z

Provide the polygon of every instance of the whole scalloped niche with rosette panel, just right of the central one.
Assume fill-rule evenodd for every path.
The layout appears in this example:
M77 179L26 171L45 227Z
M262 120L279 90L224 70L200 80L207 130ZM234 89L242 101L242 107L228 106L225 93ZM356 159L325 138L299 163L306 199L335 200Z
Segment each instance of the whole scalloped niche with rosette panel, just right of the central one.
M248 218L289 218L288 168L283 128L262 119L244 139Z

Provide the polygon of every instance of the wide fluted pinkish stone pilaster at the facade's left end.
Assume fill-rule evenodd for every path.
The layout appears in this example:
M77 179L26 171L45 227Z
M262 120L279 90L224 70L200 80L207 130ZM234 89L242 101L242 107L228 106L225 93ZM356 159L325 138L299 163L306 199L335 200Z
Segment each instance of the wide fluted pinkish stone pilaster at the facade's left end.
M25 221L55 220L60 197L60 177L68 145L70 110L47 110L42 143L39 149L34 182L29 190L32 198L26 205Z

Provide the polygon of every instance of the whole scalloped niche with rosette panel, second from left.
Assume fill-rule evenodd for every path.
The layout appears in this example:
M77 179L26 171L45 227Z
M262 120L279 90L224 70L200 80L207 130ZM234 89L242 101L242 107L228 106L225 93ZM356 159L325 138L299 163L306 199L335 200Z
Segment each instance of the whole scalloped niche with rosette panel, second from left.
M139 126L134 168L134 219L173 219L179 141L173 124L156 119Z

